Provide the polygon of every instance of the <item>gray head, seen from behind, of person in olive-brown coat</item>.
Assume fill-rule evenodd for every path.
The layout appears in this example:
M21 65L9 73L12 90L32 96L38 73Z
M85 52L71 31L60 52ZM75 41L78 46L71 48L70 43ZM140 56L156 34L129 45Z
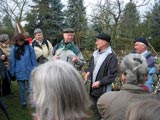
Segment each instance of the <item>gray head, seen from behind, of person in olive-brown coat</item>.
M146 59L136 53L125 56L121 62L121 72L126 74L126 83L144 84L148 75Z

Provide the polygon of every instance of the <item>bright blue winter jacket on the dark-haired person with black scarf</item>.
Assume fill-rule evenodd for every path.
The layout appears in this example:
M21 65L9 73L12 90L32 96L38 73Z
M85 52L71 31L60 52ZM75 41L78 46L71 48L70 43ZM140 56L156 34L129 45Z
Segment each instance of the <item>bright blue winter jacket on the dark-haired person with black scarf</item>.
M29 80L32 69L37 66L34 49L30 45L25 45L25 53L20 60L14 57L15 50L18 47L13 46L10 54L10 72L16 76L17 80Z

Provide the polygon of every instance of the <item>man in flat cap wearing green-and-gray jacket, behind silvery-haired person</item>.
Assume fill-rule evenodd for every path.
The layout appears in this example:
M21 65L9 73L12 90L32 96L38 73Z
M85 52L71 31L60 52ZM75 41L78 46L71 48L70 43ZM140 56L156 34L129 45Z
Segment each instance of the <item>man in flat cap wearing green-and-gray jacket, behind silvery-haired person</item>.
M78 46L73 43L74 30L72 28L64 29L63 38L64 39L53 48L50 59L67 61L77 70L80 70L85 64L85 60Z

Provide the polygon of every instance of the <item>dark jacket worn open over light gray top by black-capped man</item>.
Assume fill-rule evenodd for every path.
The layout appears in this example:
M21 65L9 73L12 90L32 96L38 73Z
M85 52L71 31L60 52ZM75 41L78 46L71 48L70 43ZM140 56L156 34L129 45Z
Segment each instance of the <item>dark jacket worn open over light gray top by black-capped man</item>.
M92 74L94 70L94 57L92 56L89 62L89 66L87 71L91 73L91 80L92 80ZM91 95L93 96L101 96L107 89L107 85L114 82L116 76L118 73L118 60L116 58L116 55L114 53L109 54L104 62L102 63L96 80L100 81L100 87L99 88L91 88Z

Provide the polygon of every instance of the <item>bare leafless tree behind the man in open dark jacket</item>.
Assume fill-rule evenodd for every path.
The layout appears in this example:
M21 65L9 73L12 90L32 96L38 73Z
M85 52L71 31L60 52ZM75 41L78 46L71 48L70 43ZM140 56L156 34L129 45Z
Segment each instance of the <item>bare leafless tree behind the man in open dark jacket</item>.
M150 0L130 0L130 2L134 2L136 7L141 7L147 5ZM109 32L115 43L117 43L118 27L124 8L124 0L99 0L91 16L93 24L97 25L100 31Z

